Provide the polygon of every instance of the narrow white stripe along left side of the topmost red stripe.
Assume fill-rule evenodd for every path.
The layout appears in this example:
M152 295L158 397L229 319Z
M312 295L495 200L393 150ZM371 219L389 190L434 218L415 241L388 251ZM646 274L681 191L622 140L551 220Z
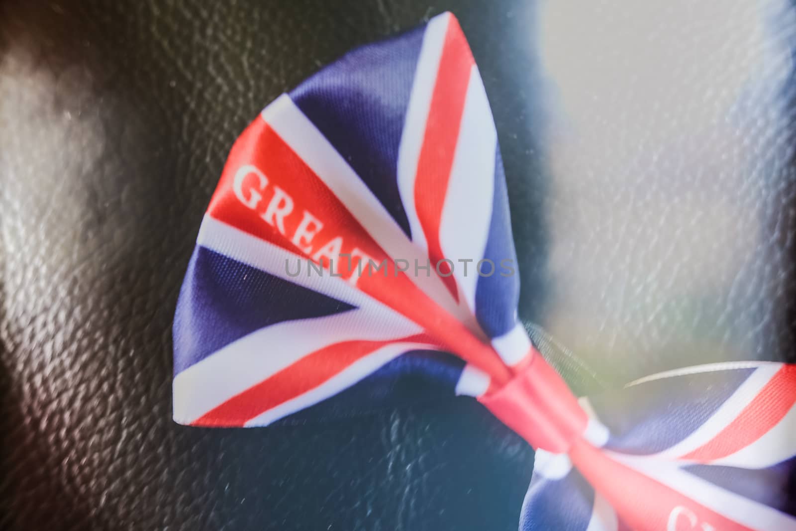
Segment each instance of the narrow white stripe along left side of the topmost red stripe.
M449 13L432 18L423 33L423 45L420 47L415 80L406 111L406 122L398 148L398 190L401 202L404 204L409 228L412 230L412 241L424 251L427 251L428 245L415 209L415 179L420 150L423 148L423 139L426 136L431 96L434 94L439 71L439 59L443 54L445 33L450 20Z

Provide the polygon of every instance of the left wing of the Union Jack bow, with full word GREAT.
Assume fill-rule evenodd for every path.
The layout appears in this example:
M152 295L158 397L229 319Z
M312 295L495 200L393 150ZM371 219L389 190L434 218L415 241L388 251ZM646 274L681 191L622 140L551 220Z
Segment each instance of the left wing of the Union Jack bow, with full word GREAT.
M174 420L478 396L468 380L529 356L518 276L489 101L441 14L334 61L232 147L175 311Z

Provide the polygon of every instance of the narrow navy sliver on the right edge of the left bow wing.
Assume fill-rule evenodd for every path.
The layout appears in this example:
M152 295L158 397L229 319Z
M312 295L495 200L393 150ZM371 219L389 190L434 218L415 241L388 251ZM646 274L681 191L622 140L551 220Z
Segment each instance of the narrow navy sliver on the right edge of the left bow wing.
M500 146L495 147L494 182L492 219L484 258L492 260L495 270L491 276L479 277L475 287L475 317L490 338L501 336L513 328L517 322L517 304L520 300L520 274L511 233L509 196L505 188ZM513 274L509 275L509 271L501 267L502 260L511 260ZM484 274L489 273L489 264L484 264L482 271Z

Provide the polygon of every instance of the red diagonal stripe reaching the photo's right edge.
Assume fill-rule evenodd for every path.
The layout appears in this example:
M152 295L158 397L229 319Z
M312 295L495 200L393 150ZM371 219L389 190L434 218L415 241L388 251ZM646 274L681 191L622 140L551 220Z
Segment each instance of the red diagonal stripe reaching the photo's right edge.
M774 428L796 404L796 365L782 365L743 408L739 416L713 439L681 459L708 462L743 450Z

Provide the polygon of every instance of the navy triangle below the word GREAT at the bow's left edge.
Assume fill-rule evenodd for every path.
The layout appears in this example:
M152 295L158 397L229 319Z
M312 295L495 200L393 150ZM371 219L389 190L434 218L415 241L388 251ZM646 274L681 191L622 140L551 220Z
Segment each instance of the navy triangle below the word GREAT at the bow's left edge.
M354 307L197 245L174 314L174 374L263 326Z

